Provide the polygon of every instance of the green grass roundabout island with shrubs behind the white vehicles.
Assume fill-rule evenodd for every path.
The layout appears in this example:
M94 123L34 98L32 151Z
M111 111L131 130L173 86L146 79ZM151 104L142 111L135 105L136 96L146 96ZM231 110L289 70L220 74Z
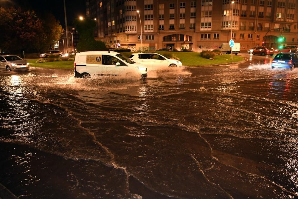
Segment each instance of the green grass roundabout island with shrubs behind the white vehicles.
M121 53L127 57L129 57L132 53ZM182 64L187 67L196 67L196 66L205 66L205 65L215 65L215 64L227 64L232 62L242 61L244 58L239 55L233 55L233 60L231 59L231 55L216 55L213 60L202 58L200 53L190 53L190 52L164 52L164 51L156 51L154 53L159 53L161 55L165 54L174 54L174 57L180 59ZM73 69L74 61L53 61L53 62L45 62L45 63L35 63L37 59L29 60L29 64L31 67L41 67L41 68L51 68L51 69Z

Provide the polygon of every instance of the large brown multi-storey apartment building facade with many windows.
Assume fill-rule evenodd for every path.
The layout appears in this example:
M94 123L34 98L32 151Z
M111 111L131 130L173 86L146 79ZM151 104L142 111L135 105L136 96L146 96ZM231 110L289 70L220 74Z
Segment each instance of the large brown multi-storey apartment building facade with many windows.
M86 0L86 14L97 18L95 39L111 47L199 52L231 38L241 50L296 45L296 6L298 0Z

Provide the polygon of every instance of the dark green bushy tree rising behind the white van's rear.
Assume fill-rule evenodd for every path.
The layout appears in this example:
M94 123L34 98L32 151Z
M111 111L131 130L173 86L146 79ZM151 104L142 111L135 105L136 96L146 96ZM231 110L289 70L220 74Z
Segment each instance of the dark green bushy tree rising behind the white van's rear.
M103 41L94 39L95 21L84 19L75 21L76 29L80 33L80 41L77 44L78 51L107 50Z

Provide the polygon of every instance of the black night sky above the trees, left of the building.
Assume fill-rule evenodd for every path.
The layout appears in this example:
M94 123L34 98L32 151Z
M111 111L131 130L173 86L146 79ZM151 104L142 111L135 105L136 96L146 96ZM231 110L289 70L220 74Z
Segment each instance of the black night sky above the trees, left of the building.
M52 13L65 29L63 0L0 0L0 6L21 7L23 10L34 10L36 13ZM65 0L67 25L72 26L72 22L79 16L86 16L85 0Z

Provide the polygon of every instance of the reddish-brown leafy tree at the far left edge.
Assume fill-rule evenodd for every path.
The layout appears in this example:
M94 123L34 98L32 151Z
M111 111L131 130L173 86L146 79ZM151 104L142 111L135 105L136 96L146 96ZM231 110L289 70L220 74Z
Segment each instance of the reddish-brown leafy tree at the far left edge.
M0 8L0 48L10 52L33 50L42 23L34 11L23 12L20 8Z

